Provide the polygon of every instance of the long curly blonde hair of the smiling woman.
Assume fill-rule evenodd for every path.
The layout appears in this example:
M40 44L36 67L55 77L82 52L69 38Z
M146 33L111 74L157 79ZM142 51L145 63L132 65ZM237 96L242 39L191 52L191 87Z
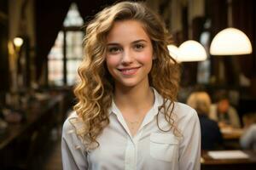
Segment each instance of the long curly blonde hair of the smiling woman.
M160 109L164 109L166 121L171 125L174 122L171 114L177 97L179 67L168 52L167 44L171 38L164 22L143 3L116 3L96 14L86 28L84 60L79 66L81 81L74 89L78 99L74 110L83 121L83 126L76 132L89 145L99 145L96 138L109 123L108 108L112 104L114 84L106 67L105 55L108 32L117 20L137 20L143 24L156 57L148 75L149 85L165 99ZM171 102L166 106L168 100Z

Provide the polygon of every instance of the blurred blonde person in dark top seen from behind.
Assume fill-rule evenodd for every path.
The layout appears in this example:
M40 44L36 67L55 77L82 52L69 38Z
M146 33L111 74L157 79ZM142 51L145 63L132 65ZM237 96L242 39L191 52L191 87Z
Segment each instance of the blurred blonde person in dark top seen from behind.
M194 92L189 95L187 104L197 111L201 124L201 149L218 150L223 144L218 123L209 119L211 99L206 92Z

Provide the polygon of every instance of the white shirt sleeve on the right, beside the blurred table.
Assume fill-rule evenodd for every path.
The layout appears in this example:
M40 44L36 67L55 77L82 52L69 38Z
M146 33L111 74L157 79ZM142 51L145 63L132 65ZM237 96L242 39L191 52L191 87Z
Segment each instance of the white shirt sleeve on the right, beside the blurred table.
M195 110L190 111L182 121L181 130L183 139L179 148L179 169L200 170L201 169L201 127Z

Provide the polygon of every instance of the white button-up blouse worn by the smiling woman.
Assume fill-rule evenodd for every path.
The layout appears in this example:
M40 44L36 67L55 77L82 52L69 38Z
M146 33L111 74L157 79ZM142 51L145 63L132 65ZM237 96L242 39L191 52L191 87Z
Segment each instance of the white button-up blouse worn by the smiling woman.
M98 136L99 147L85 150L70 119L63 125L61 152L64 170L198 170L201 158L201 130L196 111L175 103L172 112L181 135L159 129L156 116L163 98L154 90L154 105L145 116L137 134L131 136L117 106L109 109L107 127ZM158 116L161 129L169 129L164 114Z

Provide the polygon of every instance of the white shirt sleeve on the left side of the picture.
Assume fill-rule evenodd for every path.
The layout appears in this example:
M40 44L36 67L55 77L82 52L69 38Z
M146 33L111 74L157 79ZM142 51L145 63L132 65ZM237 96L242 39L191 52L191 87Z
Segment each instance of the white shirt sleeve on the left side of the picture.
M75 133L73 125L66 120L61 138L61 156L63 170L88 169L87 153L84 145Z

